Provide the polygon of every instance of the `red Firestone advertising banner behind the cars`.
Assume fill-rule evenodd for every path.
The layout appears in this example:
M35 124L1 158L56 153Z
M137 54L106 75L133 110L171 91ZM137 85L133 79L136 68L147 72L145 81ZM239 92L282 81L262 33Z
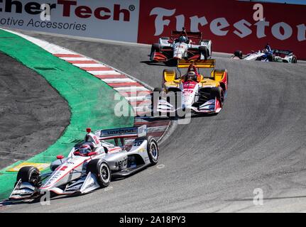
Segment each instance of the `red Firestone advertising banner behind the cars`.
M273 49L292 50L297 59L306 59L306 6L260 5L234 0L141 0L138 43L158 43L159 37L185 26L212 40L213 51L248 53L269 43Z

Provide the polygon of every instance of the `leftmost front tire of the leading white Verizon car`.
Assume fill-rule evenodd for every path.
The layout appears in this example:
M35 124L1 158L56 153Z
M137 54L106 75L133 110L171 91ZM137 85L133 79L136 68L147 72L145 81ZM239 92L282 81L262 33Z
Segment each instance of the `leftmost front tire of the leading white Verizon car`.
M38 187L40 184L40 171L38 170L38 168L33 166L22 167L18 171L15 186L18 183L19 179L21 179L21 182L31 183L35 187Z

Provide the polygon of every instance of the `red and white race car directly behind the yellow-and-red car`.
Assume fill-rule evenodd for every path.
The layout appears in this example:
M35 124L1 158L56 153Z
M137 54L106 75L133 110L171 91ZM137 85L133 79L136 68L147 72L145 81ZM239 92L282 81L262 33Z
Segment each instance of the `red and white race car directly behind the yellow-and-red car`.
M151 48L151 62L206 60L212 55L212 40L202 40L202 33L172 31L170 38L159 38Z

